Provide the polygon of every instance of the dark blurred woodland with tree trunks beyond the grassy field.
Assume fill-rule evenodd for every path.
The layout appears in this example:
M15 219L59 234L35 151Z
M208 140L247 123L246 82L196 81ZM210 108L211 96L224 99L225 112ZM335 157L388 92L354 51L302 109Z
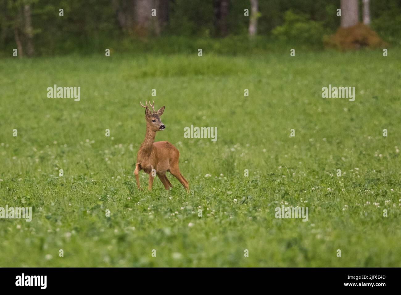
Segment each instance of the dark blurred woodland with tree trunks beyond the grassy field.
M0 50L10 55L18 48L19 57L105 48L177 53L203 46L223 54L279 50L280 44L322 49L340 25L355 19L385 42L401 42L400 0L0 0L0 7Z

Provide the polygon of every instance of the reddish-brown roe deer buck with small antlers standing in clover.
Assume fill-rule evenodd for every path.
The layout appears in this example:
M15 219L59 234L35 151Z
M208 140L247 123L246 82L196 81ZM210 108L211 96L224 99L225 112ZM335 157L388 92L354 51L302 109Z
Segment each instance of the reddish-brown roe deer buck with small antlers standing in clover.
M160 116L164 112L164 106L161 107L157 112L154 111L154 101L153 105L149 105L153 109L153 114L150 112L148 103L145 100L146 106L140 103L142 107L145 108L145 119L146 119L146 136L144 142L142 142L138 155L136 156L136 167L135 167L135 178L138 189L139 185L139 171L142 169L149 174L149 187L152 190L154 171L156 171L157 176L162 181L164 187L169 189L172 185L168 181L166 176L166 171L169 171L180 183L184 186L186 191L189 191L188 181L180 173L178 168L178 158L180 157L180 152L168 141L158 141L154 142L156 132L164 130L166 126L160 121Z

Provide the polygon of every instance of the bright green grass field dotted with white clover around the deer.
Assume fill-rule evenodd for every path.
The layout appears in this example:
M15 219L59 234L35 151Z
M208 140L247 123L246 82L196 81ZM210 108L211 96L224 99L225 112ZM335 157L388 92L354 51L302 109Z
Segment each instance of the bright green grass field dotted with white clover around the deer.
M0 207L33 216L0 219L0 267L401 267L399 49L289 52L3 59ZM47 98L54 84L81 100ZM170 191L136 187L145 99L166 106L156 141L189 194L169 173ZM276 219L282 204L308 221Z

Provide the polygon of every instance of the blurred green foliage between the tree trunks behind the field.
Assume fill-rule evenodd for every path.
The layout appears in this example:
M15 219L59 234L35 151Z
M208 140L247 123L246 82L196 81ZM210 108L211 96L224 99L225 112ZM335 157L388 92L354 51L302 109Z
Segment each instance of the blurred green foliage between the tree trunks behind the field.
M152 47L153 52L169 53L172 52L170 48L184 49L174 53L192 51L194 45L185 45L184 42L210 43L213 49L209 49L209 52L249 54L249 47L254 51L256 44L241 43L239 47L234 44L236 40L245 40L248 34L250 16L244 16L244 9L250 9L249 1L229 1L226 19L229 38L217 44L220 39L213 41L213 38L220 37L216 15L219 1L215 0L169 1L168 18L162 26L160 40L154 33L135 33L135 24L129 28L121 27L117 11L122 11L127 14L126 17L133 19L135 1L0 0L3 8L0 12L0 52L3 55L10 56L12 49L16 48L14 26L19 28L24 47L22 6L26 3L32 6L36 56L91 54L110 47L119 51L135 52L139 52L139 48L146 51L149 47ZM119 10L113 3L121 6ZM340 0L330 3L326 0L259 1L257 32L260 39L257 43L260 44L263 40L265 45L261 47L258 44L256 51L261 52L270 47L271 37L288 43L286 47L290 43L296 43L297 46L321 48L322 36L334 33L340 25L340 18L336 16L336 9L339 7ZM59 16L60 8L64 9L63 17ZM400 43L400 14L401 2L398 0L371 0L372 28L391 44ZM174 41L178 44L174 44ZM161 48L157 49L156 46Z

